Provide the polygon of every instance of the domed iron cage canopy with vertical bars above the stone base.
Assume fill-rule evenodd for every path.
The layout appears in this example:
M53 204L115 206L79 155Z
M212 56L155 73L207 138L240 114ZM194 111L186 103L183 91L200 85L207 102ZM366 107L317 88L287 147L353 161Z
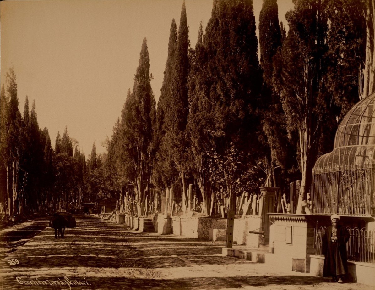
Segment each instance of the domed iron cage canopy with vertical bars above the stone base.
M342 119L333 151L312 171L313 213L375 214L375 93Z

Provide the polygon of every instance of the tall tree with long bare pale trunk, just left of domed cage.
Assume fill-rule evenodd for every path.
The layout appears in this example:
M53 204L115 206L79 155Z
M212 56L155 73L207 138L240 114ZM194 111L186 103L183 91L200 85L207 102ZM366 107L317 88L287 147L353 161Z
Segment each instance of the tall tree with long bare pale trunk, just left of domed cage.
M301 213L301 202L311 187L311 171L327 107L323 83L327 19L319 0L297 0L294 10L286 16L290 29L281 51L279 90L288 131L292 133L297 128L299 135L302 178L297 213Z

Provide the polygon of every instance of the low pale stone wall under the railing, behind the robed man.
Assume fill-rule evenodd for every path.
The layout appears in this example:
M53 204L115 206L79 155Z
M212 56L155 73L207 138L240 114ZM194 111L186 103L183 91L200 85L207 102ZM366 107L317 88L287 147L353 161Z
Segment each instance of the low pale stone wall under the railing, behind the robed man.
M312 276L323 276L324 257L310 256L310 274ZM375 287L375 264L348 261L348 274L346 276L349 282L358 282Z

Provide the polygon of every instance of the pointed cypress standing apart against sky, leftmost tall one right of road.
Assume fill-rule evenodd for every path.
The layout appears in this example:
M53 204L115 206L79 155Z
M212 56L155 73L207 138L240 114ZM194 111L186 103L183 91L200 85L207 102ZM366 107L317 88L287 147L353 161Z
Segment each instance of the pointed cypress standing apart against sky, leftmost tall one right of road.
M137 213L142 215L141 204L150 180L150 147L152 141L151 118L155 116L154 95L150 85L150 57L147 40L143 39L139 65L134 77L133 92L129 92L121 115L121 149L123 165L131 169L129 177L135 185ZM132 166L129 167L129 166Z

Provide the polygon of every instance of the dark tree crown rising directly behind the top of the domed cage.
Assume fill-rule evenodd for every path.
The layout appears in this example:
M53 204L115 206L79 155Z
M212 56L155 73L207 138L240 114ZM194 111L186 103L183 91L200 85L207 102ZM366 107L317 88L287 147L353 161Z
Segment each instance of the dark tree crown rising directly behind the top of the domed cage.
M337 121L359 100L359 63L365 55L366 23L363 17L365 1L330 0L327 2L329 29L326 53L327 75L325 82L332 94L330 111L337 127ZM335 133L335 132L334 132Z

